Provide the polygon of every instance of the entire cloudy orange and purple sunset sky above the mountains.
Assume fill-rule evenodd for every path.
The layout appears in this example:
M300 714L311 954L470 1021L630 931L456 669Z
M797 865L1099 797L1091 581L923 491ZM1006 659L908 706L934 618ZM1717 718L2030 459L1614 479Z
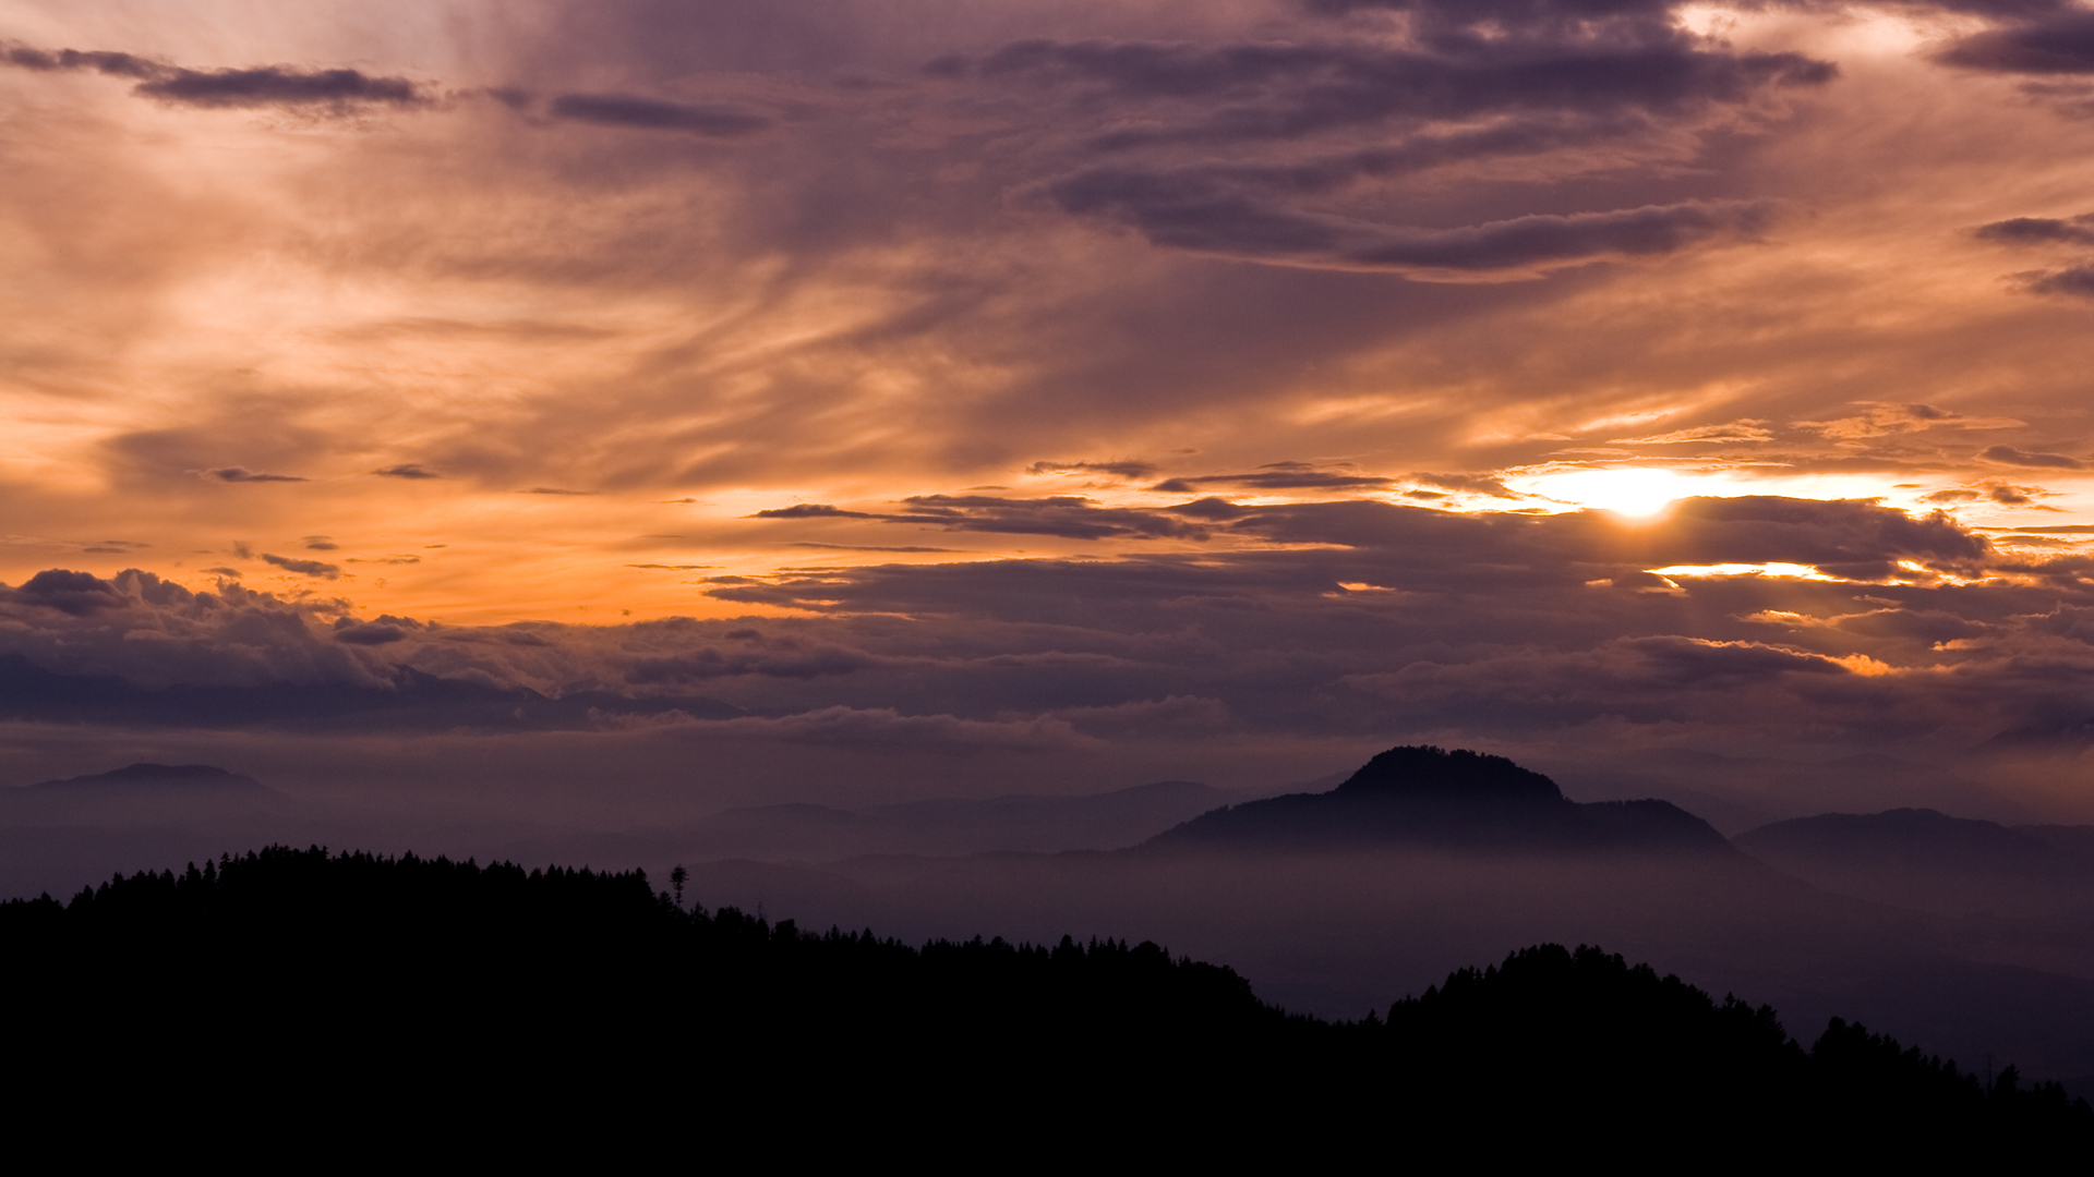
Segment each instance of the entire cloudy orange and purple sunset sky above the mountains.
M0 0L0 174L15 783L2094 821L2094 8Z

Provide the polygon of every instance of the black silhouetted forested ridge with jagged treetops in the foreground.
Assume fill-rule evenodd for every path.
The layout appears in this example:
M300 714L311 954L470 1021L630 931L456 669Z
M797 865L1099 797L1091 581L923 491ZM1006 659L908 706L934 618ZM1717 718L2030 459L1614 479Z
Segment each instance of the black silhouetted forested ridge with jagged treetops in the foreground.
M1983 1083L1839 1022L1805 1049L1767 1007L1598 949L1524 949L1332 1024L1156 945L911 947L685 907L641 873L270 848L6 903L0 953L25 1123L88 1091L191 1129L237 1108L488 1148L785 1120L800 1146L875 1133L875 1152L879 1133L1106 1133L1296 1160L2094 1143L2094 1112L2054 1085Z

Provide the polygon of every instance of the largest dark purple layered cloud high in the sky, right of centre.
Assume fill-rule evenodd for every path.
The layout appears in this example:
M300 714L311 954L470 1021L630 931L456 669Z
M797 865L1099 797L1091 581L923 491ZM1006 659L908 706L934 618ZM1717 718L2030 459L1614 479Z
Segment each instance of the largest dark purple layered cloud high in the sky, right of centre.
M1715 111L1813 88L1830 63L1740 52L1665 6L1499 15L1418 6L1397 38L1022 40L934 73L1104 126L1034 191L1072 216L1223 258L1401 272L1531 272L1753 237L1755 201L1541 207L1407 222L1384 191L1449 165L1554 153L1692 153ZM1376 188L1376 184L1384 188ZM1372 193L1372 195L1369 195Z

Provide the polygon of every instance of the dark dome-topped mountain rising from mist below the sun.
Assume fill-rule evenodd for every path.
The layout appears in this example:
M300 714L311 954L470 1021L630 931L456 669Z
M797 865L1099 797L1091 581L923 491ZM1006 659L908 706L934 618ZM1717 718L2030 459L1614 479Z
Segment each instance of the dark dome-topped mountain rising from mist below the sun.
M1328 794L1288 794L1204 813L1152 848L1336 850L1384 844L1499 850L1730 852L1707 821L1663 800L1573 802L1503 756L1407 746L1367 760Z

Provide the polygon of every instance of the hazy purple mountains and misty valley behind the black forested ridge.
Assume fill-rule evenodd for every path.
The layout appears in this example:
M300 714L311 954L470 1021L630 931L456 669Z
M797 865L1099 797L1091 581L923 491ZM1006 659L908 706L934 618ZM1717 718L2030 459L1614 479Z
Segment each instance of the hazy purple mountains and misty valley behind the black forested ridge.
M132 764L0 790L0 896L270 842L645 865L658 886L683 863L708 907L913 942L1148 936L1338 1016L1516 945L1608 942L1799 1016L1845 1009L1926 1049L2094 1076L2094 827L1891 810L1759 823L1734 846L1675 804L1579 804L1464 750L1395 748L1265 800L1156 781L752 806L624 834L379 815L224 769Z

